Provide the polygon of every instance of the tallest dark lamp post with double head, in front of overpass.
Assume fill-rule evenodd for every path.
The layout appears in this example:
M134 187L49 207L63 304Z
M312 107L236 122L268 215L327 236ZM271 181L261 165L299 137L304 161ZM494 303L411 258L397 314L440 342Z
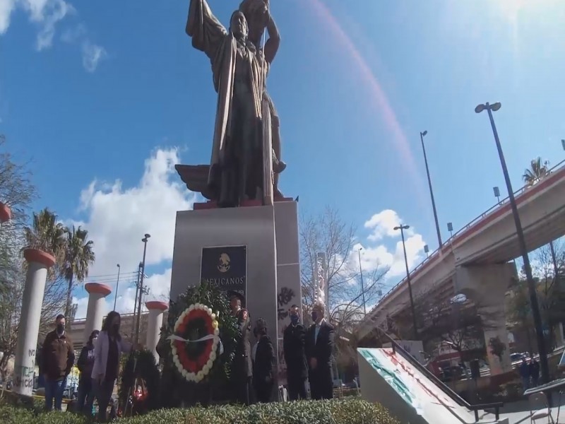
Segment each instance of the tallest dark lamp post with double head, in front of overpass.
M524 262L525 276L528 281L528 291L530 293L530 307L532 308L535 334L537 336L537 350L540 353L540 370L542 372L542 382L547 383L549 381L549 367L547 366L547 351L545 350L542 317L540 315L540 306L537 303L537 293L535 291L535 283L532 276L532 267L530 266L528 249L526 248L525 245L522 223L520 220L520 216L518 215L518 207L516 206L516 199L514 199L514 192L512 189L512 184L510 182L508 168L506 167L506 160L504 160L504 153L502 152L502 147L500 145L499 134L496 131L496 125L494 124L494 118L492 117L492 112L493 111L496 112L497 110L500 109L500 107L501 104L499 102L496 102L493 105L490 105L487 102L484 105L478 105L477 107L475 107L475 112L480 113L483 110L487 110L489 114L490 125L492 126L492 134L494 135L494 141L496 142L496 148L499 151L500 164L502 165L502 172L504 173L504 180L506 181L506 189L508 189L508 197L510 201L510 206L512 208L514 225L516 225L516 236L518 237L518 245L520 247L522 260Z

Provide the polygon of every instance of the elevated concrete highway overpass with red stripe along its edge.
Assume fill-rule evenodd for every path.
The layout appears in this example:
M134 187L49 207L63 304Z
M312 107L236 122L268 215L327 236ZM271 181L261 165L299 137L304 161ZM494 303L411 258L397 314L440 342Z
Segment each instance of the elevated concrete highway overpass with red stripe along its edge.
M547 177L515 193L518 213L530 251L565 235L565 161ZM500 301L516 269L507 264L520 256L516 226L508 198L472 220L410 272L415 298L434 294L469 294ZM409 305L408 282L403 278L359 324L364 338L375 326L386 328ZM504 303L504 302L501 302ZM494 306L494 304L493 304Z

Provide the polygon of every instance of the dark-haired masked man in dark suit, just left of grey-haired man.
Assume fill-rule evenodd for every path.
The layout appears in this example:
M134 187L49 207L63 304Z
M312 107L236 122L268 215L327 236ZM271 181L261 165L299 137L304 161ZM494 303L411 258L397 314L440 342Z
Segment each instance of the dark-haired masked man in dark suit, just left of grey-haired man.
M308 368L304 343L306 343L306 329L300 324L298 306L290 307L290 325L283 334L283 352L287 364L287 389L291 401L306 399L306 379Z

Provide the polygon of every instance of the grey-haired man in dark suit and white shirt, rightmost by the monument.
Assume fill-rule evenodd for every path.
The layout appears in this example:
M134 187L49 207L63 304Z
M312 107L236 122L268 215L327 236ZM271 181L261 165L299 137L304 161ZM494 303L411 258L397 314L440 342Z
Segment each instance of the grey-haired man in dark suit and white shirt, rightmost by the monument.
M333 353L333 326L326 322L323 314L326 306L316 301L312 306L314 324L306 335L306 357L311 398L332 399L333 380L331 378L331 358Z

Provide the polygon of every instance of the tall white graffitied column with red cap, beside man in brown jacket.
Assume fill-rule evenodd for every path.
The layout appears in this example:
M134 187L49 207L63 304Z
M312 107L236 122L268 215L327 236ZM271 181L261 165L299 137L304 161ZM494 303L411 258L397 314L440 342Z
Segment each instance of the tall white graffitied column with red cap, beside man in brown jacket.
M47 270L55 264L55 258L37 249L25 249L23 257L28 261L28 273L25 276L23 289L18 345L13 370L13 391L31 396L45 281Z

